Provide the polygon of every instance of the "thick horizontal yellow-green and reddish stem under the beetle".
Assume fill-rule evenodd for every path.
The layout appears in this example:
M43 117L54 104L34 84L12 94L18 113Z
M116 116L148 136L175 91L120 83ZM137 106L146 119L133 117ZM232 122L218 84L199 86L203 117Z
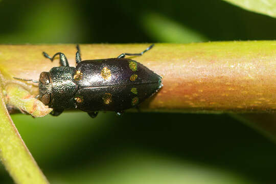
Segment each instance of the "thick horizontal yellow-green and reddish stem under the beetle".
M82 44L82 60L137 53L149 44ZM143 111L274 112L276 109L276 41L156 44L141 57L131 57L163 76L163 88L142 104ZM75 66L74 44L0 45L0 70L12 77L38 80L59 65L42 56L64 53ZM12 80L15 81L15 80ZM31 82L25 85L38 94Z

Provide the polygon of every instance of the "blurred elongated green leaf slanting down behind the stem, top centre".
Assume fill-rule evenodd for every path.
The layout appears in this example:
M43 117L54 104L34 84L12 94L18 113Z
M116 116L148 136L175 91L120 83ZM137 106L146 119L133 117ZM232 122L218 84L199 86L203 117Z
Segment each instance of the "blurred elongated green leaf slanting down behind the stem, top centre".
M145 13L142 25L150 37L157 42L190 43L208 41L200 33L157 13Z

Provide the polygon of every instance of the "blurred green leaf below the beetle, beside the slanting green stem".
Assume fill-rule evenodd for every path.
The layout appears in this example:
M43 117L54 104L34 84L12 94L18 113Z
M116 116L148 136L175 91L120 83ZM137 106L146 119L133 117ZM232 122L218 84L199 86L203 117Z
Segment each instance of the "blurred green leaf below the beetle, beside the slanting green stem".
M73 145L85 144L87 136L104 134L109 129L106 122L114 116L100 113L97 119L91 119L85 112L64 112L59 117L35 119L14 114L12 119L37 162L48 163L70 151Z

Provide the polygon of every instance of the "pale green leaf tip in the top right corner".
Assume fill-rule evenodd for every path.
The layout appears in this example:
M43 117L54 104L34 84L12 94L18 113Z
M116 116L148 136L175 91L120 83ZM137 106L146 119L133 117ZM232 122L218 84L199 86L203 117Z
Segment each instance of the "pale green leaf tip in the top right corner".
M246 10L276 17L275 0L224 0Z

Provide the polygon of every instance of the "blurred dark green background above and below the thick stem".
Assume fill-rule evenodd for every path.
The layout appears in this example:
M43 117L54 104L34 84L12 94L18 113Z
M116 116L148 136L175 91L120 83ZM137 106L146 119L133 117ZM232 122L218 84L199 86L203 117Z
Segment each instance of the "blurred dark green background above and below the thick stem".
M2 0L0 19L2 44L273 40L276 33L274 18L218 0ZM51 183L276 182L275 145L228 114L12 119ZM12 183L2 166L0 183Z

